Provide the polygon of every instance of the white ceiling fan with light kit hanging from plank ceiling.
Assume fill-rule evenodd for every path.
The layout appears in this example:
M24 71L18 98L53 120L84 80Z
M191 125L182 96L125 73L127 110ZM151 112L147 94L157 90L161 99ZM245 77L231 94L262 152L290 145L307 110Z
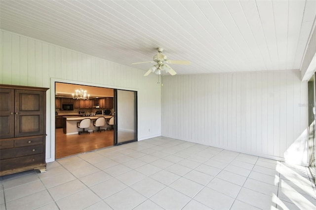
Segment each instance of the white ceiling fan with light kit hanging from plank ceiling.
M182 65L190 65L190 61L175 61L175 60L168 60L167 56L162 54L163 49L158 47L158 54L154 56L154 61L147 61L147 62L139 62L139 63L132 63L132 64L144 64L144 63L156 63L154 66L149 68L149 70L144 74L144 76L148 76L151 72L156 74L161 74L161 71L166 71L171 75L175 75L175 72L168 64L182 64Z

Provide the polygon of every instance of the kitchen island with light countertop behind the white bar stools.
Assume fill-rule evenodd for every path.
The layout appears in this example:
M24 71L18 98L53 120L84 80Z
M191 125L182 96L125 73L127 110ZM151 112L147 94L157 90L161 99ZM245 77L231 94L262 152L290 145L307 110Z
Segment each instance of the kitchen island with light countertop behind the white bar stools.
M93 121L95 121L99 117L104 117L106 121L113 117L112 115L95 115L95 116L64 116L63 117L63 132L66 135L73 135L78 134L79 131L82 131L81 128L77 127L77 123L80 122L80 120L83 120L85 118L91 119L90 127L87 129L89 132L92 132L93 130L97 130L98 127L95 127L93 125ZM108 124L105 124L105 126L100 127L100 129L107 129L111 126Z

